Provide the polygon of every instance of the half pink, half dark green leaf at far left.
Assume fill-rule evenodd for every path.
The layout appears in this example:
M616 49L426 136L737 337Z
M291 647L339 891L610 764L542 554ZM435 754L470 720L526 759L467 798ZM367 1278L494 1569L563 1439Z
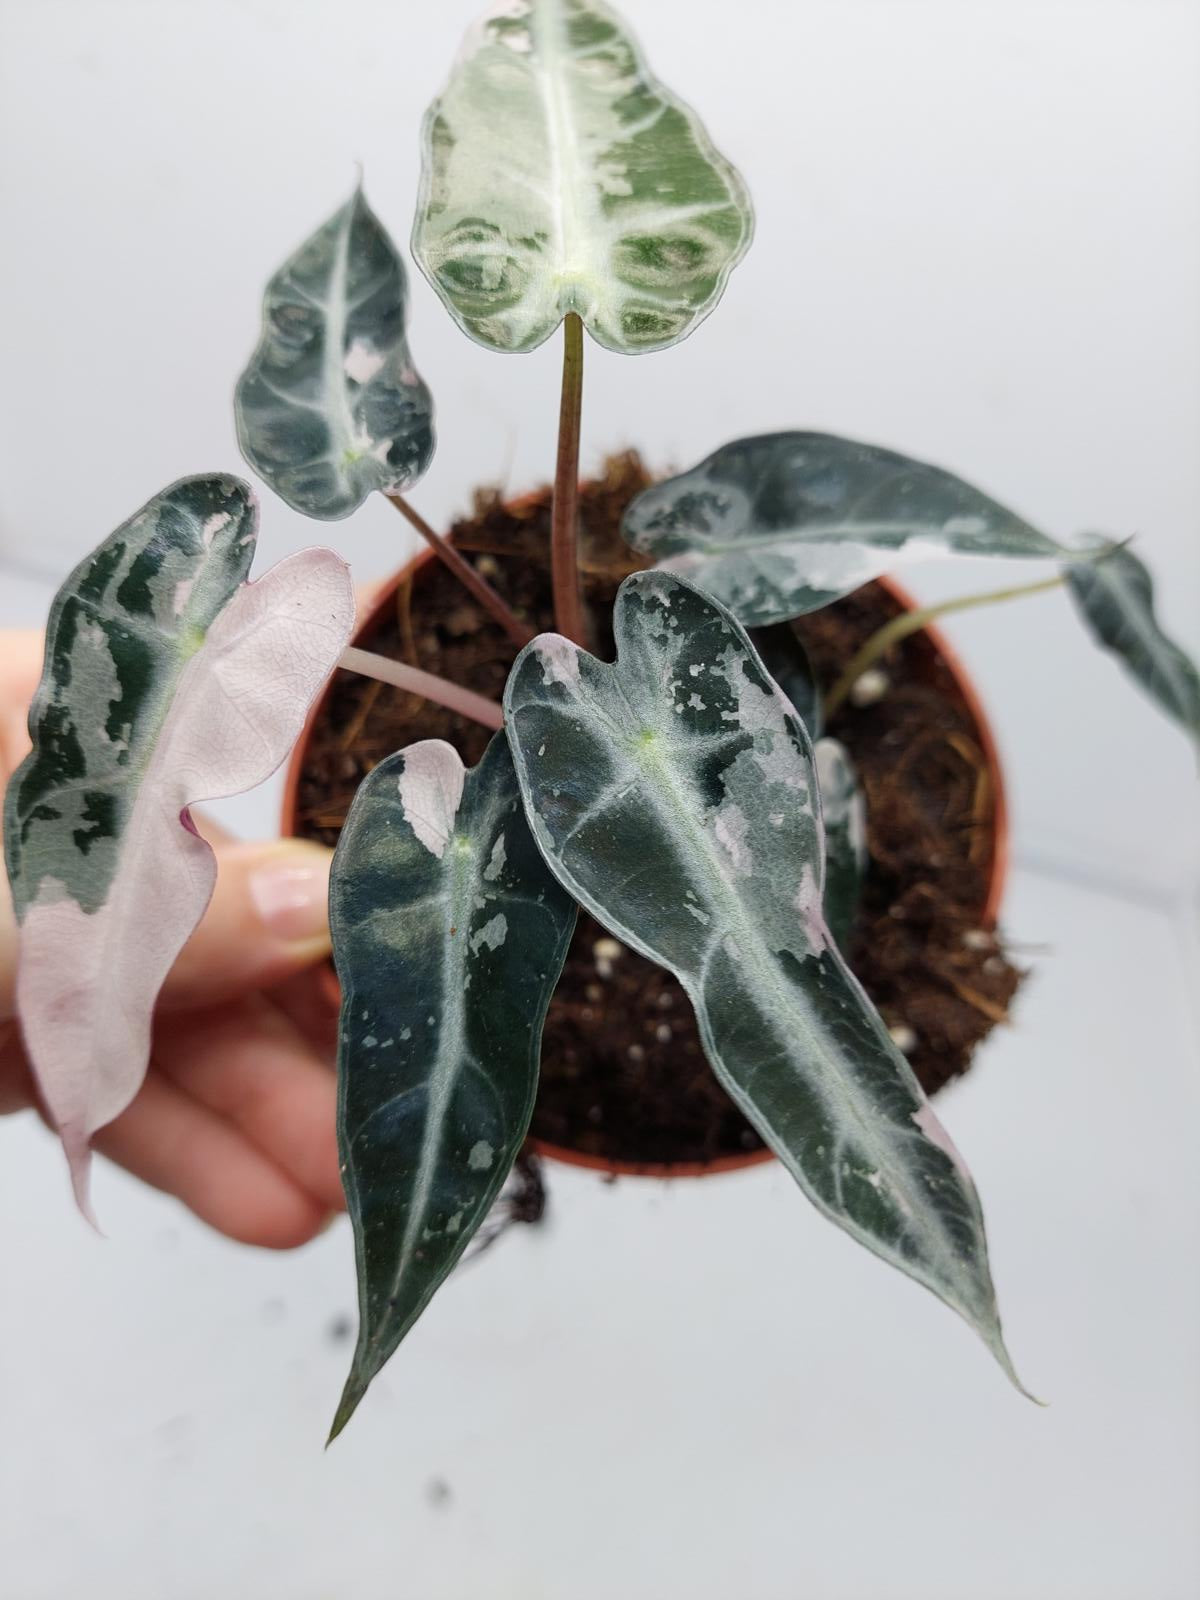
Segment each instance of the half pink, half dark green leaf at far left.
M46 626L5 856L21 1024L85 1210L88 1139L138 1093L213 890L187 808L278 766L354 624L330 550L243 582L256 520L238 478L184 478L75 568Z

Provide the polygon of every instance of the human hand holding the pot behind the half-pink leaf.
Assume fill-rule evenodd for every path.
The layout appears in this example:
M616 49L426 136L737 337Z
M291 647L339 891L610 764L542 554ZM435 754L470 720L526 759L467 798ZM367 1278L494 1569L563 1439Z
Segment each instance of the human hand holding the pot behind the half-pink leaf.
M29 749L40 632L0 632L0 784ZM155 1011L150 1070L93 1146L248 1245L302 1245L342 1208L334 1134L331 853L237 843L197 819L218 883ZM14 1018L18 931L0 878L0 1112L37 1107Z

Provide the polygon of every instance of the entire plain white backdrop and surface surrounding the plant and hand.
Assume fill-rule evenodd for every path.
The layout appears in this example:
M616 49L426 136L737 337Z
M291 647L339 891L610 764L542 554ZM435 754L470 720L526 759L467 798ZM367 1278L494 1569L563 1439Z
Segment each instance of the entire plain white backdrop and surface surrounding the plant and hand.
M758 234L693 339L587 357L586 458L824 427L1054 534L1138 536L1200 650L1200 10L640 0ZM149 494L237 469L262 282L365 166L398 240L470 5L3 0L0 624ZM558 352L413 275L435 522L552 461ZM315 530L362 576L382 502ZM314 528L267 498L264 560ZM922 571L936 597L1034 568ZM997 576L1000 574L1000 578ZM946 1098L1037 1411L781 1173L555 1173L320 1453L349 1235L280 1259L0 1128L0 1597L1184 1600L1200 1590L1194 763L1062 595L949 629L1006 757L1006 907L1045 946ZM272 826L274 794L245 802ZM448 1486L440 1498L437 1485Z

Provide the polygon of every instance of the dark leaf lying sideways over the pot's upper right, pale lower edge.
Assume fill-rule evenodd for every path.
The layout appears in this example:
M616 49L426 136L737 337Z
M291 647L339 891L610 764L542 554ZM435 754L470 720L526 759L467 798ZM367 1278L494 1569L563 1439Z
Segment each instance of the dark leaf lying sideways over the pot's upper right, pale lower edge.
M962 478L832 434L723 445L638 494L624 534L746 627L818 611L930 557L1064 554Z

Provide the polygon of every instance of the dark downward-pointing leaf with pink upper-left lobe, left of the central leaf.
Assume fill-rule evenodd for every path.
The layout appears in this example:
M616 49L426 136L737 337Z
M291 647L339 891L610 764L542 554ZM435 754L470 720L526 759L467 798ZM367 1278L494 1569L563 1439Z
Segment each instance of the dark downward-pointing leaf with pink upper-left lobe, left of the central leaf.
M502 733L363 781L333 862L338 1134L358 1259L339 1434L496 1198L530 1125L574 904L541 859Z

